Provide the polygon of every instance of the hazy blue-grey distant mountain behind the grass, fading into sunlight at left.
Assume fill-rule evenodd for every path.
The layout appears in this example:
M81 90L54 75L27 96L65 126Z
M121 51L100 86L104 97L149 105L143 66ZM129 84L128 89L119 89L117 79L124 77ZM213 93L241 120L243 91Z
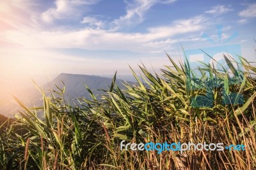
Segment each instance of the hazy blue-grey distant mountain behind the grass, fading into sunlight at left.
M58 77L40 88L44 89L46 95L49 95L49 88L58 91L58 88L56 88L54 84L61 88L63 87L61 81L65 84L65 98L72 103L72 99L76 99L78 97L91 99L84 84L86 84L95 95L99 96L102 95L102 91L99 91L98 89L109 89L112 78L100 77L97 75L61 73ZM125 81L116 79L116 85L121 89L124 88L123 83L125 83ZM130 81L128 81L128 83L134 84L134 82ZM43 105L42 95L36 88L22 90L20 93L15 94L15 97L19 98L19 100L29 107ZM17 110L20 110L19 105L15 104L13 101L13 98L3 98L0 100L0 114L12 117L11 113L15 113Z

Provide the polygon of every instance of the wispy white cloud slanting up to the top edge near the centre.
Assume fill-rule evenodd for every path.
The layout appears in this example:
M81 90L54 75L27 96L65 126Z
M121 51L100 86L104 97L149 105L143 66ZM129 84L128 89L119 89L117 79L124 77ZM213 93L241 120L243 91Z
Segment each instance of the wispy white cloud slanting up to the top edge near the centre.
M145 13L156 3L167 4L175 1L176 0L134 0L134 3L127 3L126 14L119 19L113 20L113 30L140 24L144 20Z

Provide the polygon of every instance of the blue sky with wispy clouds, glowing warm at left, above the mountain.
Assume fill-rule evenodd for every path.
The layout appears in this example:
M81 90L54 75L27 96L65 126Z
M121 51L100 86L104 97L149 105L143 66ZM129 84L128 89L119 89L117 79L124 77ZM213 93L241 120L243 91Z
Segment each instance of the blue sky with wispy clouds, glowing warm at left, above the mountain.
M165 52L178 62L183 49L218 45L239 44L256 61L255 26L249 0L0 0L0 84L63 72L128 75L141 62L158 72L170 65Z

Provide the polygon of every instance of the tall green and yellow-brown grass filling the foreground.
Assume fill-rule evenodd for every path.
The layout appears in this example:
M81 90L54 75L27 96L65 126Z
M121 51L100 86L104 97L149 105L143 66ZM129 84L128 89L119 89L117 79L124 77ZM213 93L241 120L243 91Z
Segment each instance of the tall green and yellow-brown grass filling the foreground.
M141 77L132 70L138 83L125 84L124 90L115 85L115 77L101 97L86 86L92 99L77 98L77 107L65 99L64 84L50 97L41 90L42 107L28 108L17 99L22 111L12 124L1 125L1 169L256 169L256 67L241 58L244 70L234 69L226 58L234 77L204 65L202 78L195 79L188 62L177 66L168 58L172 66L161 70L162 75L145 66ZM195 80L205 89L191 90ZM235 91L233 104L221 102ZM209 92L212 106L195 107L195 97ZM246 150L157 154L121 151L122 140L244 144Z

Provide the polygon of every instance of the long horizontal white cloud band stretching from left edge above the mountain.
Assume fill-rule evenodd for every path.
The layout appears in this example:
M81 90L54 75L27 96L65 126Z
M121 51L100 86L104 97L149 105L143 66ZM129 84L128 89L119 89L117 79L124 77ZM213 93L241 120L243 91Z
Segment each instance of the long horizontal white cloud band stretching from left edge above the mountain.
M87 18L84 22L89 22ZM122 33L104 29L86 28L79 31L31 31L29 33L7 31L1 37L25 48L80 48L90 50L130 50L151 52L162 49L165 45L148 47L148 43L166 40L173 36L200 31L207 19L202 16L186 20L176 20L170 26L151 27L147 33Z

